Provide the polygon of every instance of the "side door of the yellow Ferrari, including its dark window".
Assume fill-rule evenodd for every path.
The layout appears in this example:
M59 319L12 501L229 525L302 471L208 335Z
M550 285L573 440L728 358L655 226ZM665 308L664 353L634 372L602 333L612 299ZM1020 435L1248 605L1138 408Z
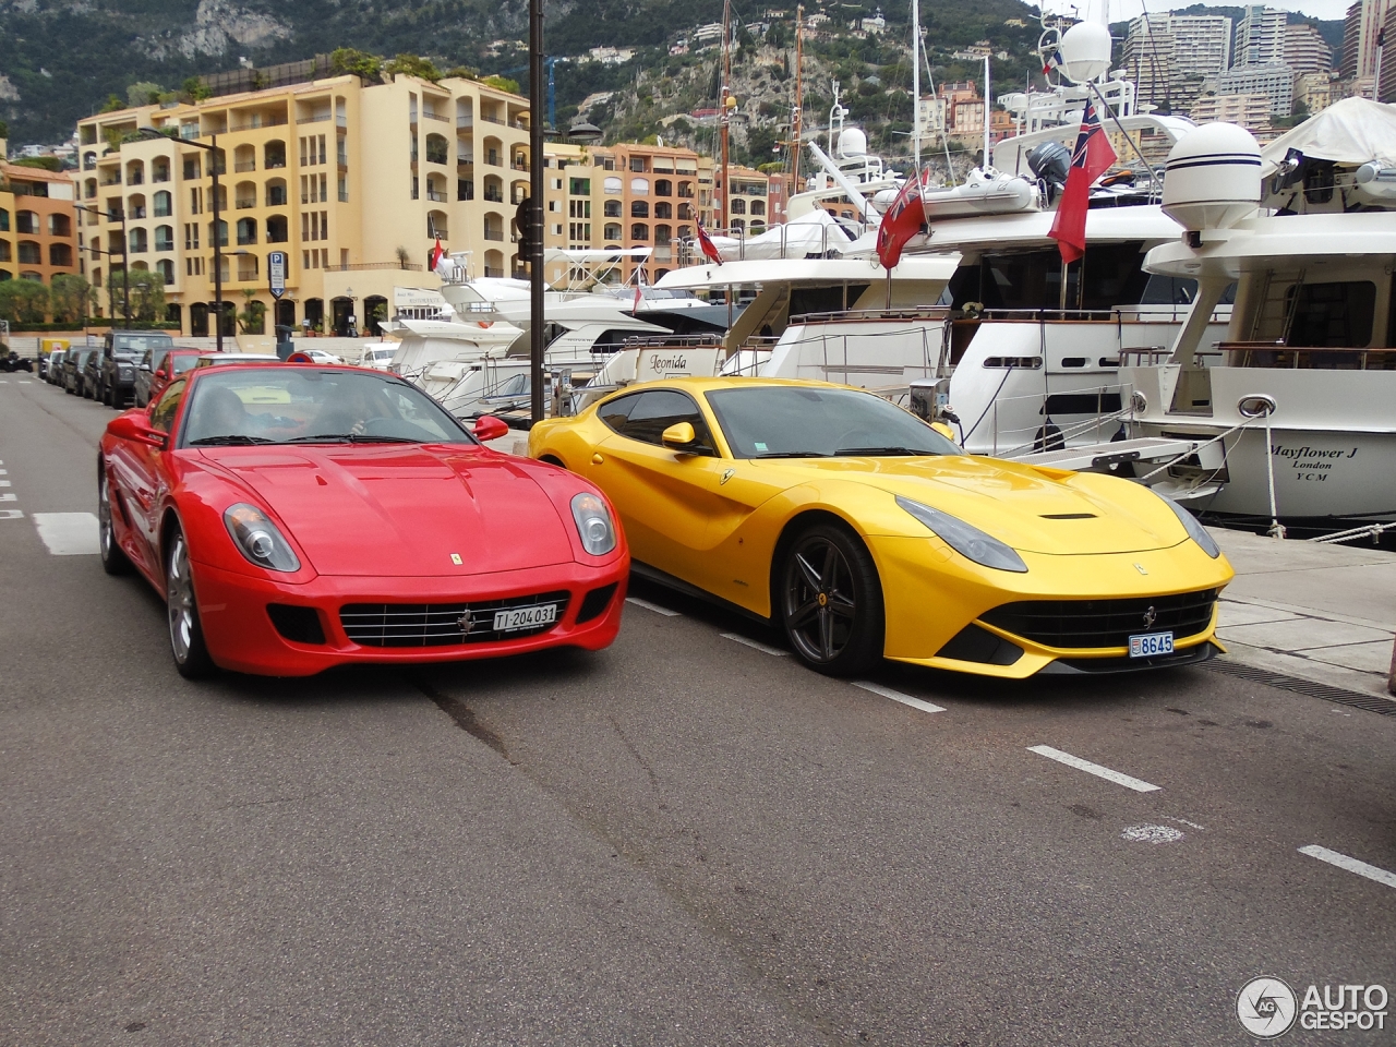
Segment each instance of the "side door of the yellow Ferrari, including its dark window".
M698 405L674 389L644 389L603 405L611 431L597 447L586 477L620 514L631 556L651 567L711 588L715 489L726 459L718 456ZM670 426L687 422L697 440L687 451L663 444ZM599 459L599 461L597 461ZM730 465L730 463L729 463Z

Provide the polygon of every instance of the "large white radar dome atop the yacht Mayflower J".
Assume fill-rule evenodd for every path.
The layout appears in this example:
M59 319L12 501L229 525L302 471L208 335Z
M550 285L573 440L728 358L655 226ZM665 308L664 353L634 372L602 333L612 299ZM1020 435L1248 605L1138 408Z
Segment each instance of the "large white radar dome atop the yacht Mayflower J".
M1203 124L1168 154L1163 212L1184 229L1230 229L1259 202L1261 147L1244 127Z

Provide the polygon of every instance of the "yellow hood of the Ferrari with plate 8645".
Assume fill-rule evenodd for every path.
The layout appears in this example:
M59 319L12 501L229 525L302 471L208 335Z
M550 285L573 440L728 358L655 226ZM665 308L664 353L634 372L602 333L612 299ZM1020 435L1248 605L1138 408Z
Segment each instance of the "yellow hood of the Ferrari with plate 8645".
M1048 556L1139 553L1167 549L1188 533L1173 511L1142 484L1096 473L1037 469L979 456L790 458L755 461L793 484L824 490L831 504L859 484L902 496L958 517L1013 549ZM889 515L886 503L864 503L870 528L907 533L921 526L909 514ZM853 507L849 507L853 508ZM903 519L905 518L905 519ZM906 521L910 521L907 526ZM889 525L889 526L888 526Z

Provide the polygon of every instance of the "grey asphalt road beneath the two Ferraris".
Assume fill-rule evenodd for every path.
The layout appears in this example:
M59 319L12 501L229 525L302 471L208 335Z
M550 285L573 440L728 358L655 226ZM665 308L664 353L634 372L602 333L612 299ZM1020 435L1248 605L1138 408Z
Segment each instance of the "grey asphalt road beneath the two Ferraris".
M95 512L112 412L3 378L0 1043L1173 1047L1254 1043L1259 974L1396 994L1396 877L1298 850L1396 870L1396 718L877 676L928 712L639 585L678 613L596 655L190 684L34 519Z

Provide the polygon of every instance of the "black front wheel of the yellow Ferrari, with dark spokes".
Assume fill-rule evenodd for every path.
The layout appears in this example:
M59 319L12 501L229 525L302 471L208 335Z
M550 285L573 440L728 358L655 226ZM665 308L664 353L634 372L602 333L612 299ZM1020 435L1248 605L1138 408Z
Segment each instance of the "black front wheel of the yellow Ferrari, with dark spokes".
M815 524L783 549L776 607L796 656L817 673L853 676L882 659L882 584L863 542Z

